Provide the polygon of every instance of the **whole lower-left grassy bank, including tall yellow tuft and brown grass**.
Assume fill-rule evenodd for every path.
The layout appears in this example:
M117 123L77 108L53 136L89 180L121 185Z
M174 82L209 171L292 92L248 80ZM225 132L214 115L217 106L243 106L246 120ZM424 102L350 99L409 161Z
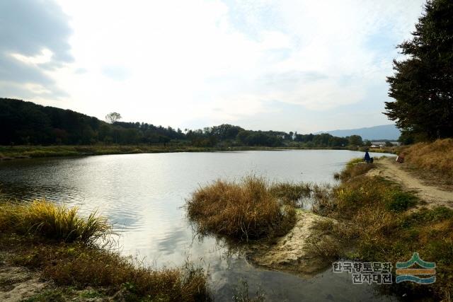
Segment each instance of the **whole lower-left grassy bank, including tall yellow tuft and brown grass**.
M96 214L84 219L77 209L45 201L0 202L0 251L10 265L52 281L57 288L47 298L89 288L121 301L210 301L202 268L190 262L163 269L137 265L99 247L110 233L108 222ZM46 296L30 301L46 301Z

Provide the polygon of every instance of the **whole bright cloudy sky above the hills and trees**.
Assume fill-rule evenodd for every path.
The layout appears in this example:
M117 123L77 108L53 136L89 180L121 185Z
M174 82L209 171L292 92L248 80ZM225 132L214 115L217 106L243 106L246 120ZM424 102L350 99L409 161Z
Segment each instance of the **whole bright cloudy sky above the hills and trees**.
M3 0L0 97L101 120L308 133L391 124L423 0Z

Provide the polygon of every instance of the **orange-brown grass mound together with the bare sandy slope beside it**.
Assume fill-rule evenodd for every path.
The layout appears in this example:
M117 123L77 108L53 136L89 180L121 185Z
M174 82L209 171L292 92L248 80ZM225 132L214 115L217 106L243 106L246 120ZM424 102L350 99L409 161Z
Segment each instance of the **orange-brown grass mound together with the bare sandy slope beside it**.
M324 186L248 176L200 187L186 209L195 231L221 239L229 252L239 252L253 265L309 277L326 268L331 240L314 228L325 218L302 206L327 193Z

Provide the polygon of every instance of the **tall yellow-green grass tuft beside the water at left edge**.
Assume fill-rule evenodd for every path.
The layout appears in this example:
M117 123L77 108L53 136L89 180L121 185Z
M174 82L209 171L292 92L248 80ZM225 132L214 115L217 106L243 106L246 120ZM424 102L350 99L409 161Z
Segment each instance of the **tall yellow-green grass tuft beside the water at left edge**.
M106 219L96 212L84 219L79 216L77 207L59 207L45 199L30 203L1 202L0 230L33 233L66 242L80 240L86 244L95 243L111 233Z

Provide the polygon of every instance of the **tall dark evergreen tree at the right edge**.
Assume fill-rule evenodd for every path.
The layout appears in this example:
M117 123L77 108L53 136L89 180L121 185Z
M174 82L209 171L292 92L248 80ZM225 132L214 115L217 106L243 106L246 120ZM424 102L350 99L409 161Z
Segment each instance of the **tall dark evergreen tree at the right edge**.
M394 60L384 112L416 140L453 137L453 1L428 0L412 40L398 48L407 57Z

